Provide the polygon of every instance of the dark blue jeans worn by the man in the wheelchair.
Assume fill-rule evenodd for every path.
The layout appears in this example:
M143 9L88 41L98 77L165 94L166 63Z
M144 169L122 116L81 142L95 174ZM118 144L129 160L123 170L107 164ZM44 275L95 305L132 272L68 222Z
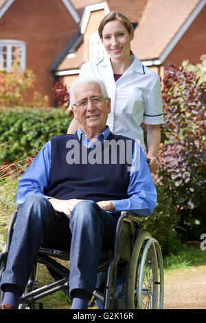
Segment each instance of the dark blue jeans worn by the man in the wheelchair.
M72 297L74 289L84 289L92 295L101 250L112 248L116 226L117 218L92 200L78 202L69 220L54 211L47 198L29 196L17 214L1 289L4 284L16 284L24 291L42 246L70 249L69 293Z

